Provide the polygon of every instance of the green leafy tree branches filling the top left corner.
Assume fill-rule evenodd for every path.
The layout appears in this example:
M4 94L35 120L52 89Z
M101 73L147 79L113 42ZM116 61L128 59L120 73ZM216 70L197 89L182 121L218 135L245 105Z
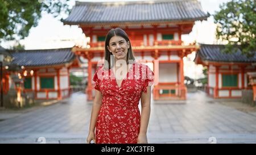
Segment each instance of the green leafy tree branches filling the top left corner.
M69 12L69 0L0 0L0 41L24 39L42 12L57 17Z

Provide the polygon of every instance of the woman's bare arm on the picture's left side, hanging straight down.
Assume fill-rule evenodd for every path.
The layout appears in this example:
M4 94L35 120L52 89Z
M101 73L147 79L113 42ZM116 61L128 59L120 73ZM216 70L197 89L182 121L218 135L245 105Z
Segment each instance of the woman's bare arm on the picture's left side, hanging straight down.
M87 143L89 144L91 140L96 143L95 140L95 127L98 117L98 112L100 111L102 105L102 94L100 91L95 90L95 98L93 100L93 107L92 107L92 114L90 115L90 128L89 128L89 135L87 137Z

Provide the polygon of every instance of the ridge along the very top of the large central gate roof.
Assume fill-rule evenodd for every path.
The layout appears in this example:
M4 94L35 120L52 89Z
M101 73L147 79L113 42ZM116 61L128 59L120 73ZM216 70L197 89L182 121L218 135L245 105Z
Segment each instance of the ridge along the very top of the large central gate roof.
M75 5L109 5L109 4L144 4L144 3L161 3L161 2L182 2L182 1L197 1L197 0L150 0L150 1L109 1L109 2L81 2L76 1Z

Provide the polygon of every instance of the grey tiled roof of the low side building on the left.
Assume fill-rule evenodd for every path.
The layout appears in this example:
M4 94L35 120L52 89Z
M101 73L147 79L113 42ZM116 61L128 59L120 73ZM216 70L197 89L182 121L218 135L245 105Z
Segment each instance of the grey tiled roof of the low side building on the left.
M20 66L48 66L71 62L75 58L72 48L38 49L10 52L12 64Z

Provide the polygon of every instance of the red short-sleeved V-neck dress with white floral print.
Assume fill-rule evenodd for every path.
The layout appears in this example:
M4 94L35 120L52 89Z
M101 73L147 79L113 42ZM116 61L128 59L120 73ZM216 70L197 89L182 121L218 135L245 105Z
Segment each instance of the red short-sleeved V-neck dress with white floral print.
M101 91L102 106L96 122L96 143L137 143L141 114L138 104L142 92L154 82L154 73L144 64L135 62L121 86L112 69L100 66L93 76L94 89Z

